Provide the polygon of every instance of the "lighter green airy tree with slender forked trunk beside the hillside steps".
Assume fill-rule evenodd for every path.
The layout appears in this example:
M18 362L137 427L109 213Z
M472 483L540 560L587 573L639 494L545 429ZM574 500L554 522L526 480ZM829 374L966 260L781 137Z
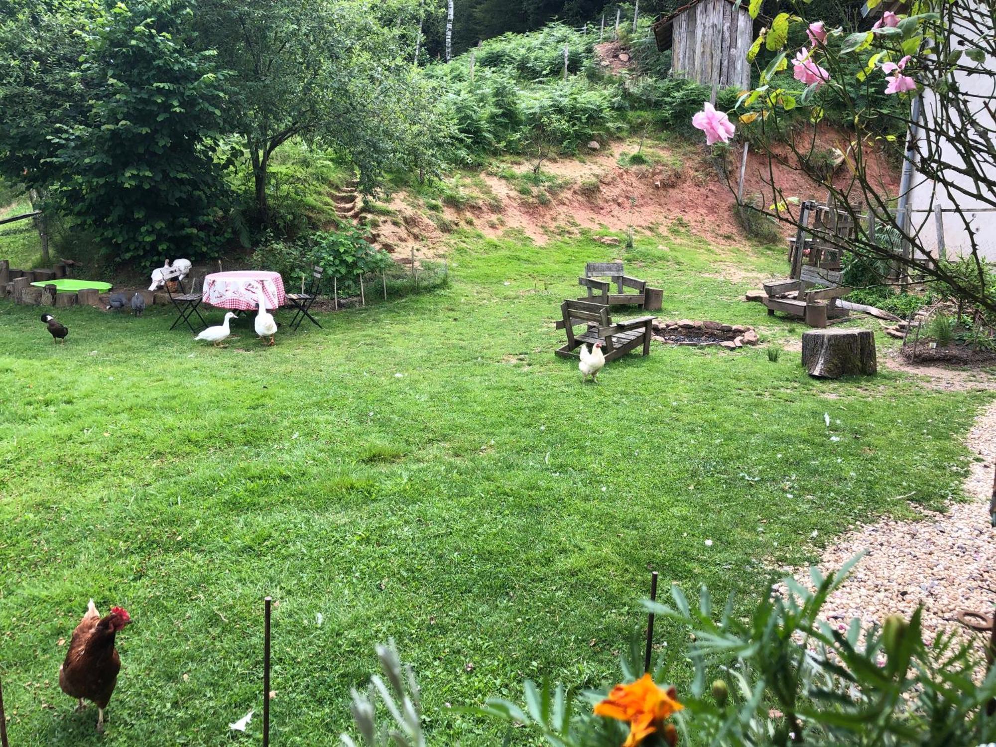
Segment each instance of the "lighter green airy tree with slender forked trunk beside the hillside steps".
M291 137L315 138L352 157L372 192L399 159L392 124L406 112L401 84L410 73L415 0L375 9L359 0L203 0L199 44L232 71L229 131L238 133L253 170L255 202L269 218L270 158ZM389 11L389 12L388 12ZM404 11L409 19L381 22Z

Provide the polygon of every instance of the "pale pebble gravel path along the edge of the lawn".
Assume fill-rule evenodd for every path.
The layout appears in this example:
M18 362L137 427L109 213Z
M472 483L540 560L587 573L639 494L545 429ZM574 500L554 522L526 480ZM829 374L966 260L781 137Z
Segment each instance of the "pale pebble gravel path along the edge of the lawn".
M960 611L992 613L996 529L990 526L989 501L996 463L996 403L975 421L966 444L982 457L972 462L965 480L968 502L952 504L945 514L924 511L920 521L870 524L827 549L819 564L824 573L866 551L848 582L827 601L828 621L860 618L866 625L881 623L892 613L908 618L922 604L924 637L932 638L942 626L964 629L954 622ZM796 577L813 588L808 570Z

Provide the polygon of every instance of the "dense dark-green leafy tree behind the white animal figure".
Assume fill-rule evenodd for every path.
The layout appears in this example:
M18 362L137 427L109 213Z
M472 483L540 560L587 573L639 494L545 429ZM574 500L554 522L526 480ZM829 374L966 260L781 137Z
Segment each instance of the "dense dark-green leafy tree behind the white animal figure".
M52 126L44 160L67 209L120 260L208 251L224 192L214 157L223 76L187 46L190 10L78 7L87 12L74 80L87 102L78 122Z

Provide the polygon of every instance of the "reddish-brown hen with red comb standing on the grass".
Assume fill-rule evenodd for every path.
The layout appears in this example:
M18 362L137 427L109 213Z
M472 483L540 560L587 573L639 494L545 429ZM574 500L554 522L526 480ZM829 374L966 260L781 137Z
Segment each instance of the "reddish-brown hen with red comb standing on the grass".
M120 607L111 608L111 614L102 618L91 600L59 667L59 686L70 697L79 698L78 711L87 707L85 700L97 704L98 731L104 731L104 709L111 702L122 668L115 636L128 622L131 618Z

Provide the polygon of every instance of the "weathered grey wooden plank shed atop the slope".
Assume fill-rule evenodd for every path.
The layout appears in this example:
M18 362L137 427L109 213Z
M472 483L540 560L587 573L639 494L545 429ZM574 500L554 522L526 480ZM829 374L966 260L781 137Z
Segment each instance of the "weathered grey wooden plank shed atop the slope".
M747 50L755 21L736 0L692 0L653 24L657 49L671 50L671 72L717 89L750 88Z

